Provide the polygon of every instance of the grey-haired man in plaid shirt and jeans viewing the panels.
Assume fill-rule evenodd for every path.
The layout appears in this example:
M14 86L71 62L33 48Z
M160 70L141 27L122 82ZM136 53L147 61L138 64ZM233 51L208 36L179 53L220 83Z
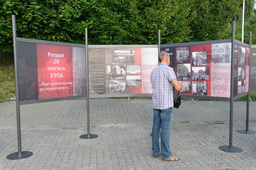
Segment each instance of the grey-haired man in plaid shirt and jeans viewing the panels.
M180 158L171 154L169 141L173 113L173 86L181 92L174 70L169 67L170 56L161 52L158 57L159 66L151 71L153 103L152 150L153 157L162 155L164 161L179 161ZM161 128L161 151L159 149L159 129Z

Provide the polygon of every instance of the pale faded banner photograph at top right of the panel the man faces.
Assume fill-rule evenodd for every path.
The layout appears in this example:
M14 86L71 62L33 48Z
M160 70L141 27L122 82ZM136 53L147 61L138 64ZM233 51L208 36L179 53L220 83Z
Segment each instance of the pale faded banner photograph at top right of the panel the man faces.
M230 63L231 62L231 43L212 45L212 62Z

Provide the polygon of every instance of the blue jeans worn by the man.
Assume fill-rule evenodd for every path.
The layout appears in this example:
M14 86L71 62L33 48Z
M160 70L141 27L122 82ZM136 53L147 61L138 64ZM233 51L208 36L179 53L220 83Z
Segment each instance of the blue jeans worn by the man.
M170 129L173 108L167 109L153 109L153 128L152 128L152 150L153 155L156 156L160 152L159 149L159 129L161 127L161 152L162 158L171 157L170 151Z

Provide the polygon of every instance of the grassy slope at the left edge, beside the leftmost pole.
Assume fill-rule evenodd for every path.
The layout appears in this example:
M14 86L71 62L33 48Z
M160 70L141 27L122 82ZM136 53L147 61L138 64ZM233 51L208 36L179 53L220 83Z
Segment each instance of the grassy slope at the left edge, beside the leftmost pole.
M15 95L14 65L9 62L0 64L0 103L7 102Z

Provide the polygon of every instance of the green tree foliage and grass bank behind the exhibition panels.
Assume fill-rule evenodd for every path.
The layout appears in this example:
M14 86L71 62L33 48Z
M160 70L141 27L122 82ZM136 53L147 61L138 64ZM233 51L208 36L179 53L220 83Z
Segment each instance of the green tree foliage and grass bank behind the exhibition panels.
M256 44L255 0L245 0L244 42ZM243 0L0 0L0 103L15 93L11 15L17 37L85 44L242 39Z

